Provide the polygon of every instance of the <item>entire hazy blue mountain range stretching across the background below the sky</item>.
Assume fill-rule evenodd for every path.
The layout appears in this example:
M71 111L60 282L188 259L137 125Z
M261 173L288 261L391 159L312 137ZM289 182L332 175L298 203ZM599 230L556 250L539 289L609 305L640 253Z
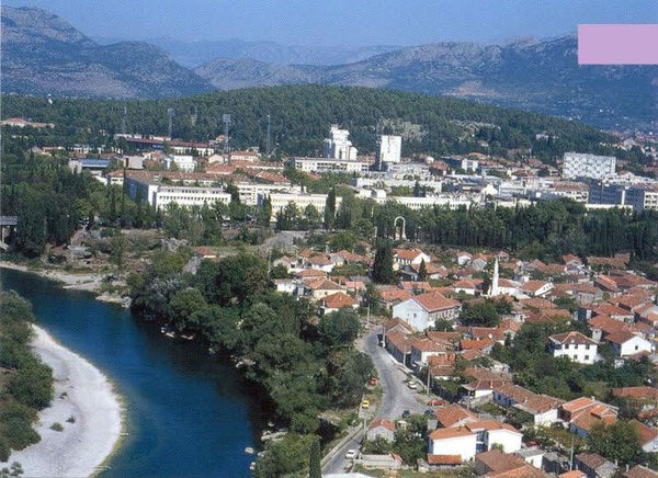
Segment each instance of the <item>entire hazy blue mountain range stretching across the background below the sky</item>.
M159 46L103 45L44 10L2 7L3 92L161 98L291 83L361 86L447 94L609 129L658 130L658 67L579 66L571 36L333 53L271 42L154 43ZM193 66L215 54L222 58L193 69L180 64Z

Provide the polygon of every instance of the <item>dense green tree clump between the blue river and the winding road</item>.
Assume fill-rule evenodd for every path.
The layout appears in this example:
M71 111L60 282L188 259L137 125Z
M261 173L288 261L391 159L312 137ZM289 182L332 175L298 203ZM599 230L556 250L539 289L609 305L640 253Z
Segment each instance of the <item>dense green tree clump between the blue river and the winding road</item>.
M273 292L262 259L203 261L192 275L181 273L181 254L157 254L146 277L131 278L134 310L241 357L294 431L315 432L319 411L359 403L373 365L352 346L353 311L314 323L307 300Z

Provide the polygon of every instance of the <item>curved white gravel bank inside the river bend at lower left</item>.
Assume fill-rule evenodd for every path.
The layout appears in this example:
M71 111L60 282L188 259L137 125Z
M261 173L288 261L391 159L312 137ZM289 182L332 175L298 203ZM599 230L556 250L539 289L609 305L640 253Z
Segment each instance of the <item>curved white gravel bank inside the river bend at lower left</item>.
M32 349L53 368L55 395L38 413L41 442L12 452L25 476L90 476L115 451L123 430L123 407L113 385L80 355L33 326ZM52 430L59 423L63 431Z

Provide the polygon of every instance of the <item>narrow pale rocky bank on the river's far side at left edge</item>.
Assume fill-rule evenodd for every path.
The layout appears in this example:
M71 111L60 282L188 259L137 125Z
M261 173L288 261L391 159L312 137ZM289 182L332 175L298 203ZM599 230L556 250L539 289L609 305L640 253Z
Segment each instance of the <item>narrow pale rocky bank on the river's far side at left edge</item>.
M39 277L55 281L61 285L63 288L69 288L72 291L84 291L95 294L97 300L117 304L123 307L131 306L131 299L128 297L122 297L115 294L101 293L103 281L107 274L104 273L72 273L55 269L34 269L23 264L16 264L9 261L0 261L0 269L11 269L14 271L27 272L30 274L38 275Z

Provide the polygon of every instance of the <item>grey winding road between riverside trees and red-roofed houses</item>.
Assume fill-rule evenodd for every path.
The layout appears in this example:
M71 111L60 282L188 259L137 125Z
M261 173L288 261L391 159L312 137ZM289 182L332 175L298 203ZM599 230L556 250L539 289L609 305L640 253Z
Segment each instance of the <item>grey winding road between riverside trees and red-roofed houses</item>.
M367 353L373 360L377 375L379 376L382 390L384 391L376 418L396 420L405 410L409 410L411 413L422 413L428 409L428 407L417 399L419 395L409 389L407 384L405 384L404 380L407 376L402 372L402 365L390 356L383 346L379 346L376 332L370 333L364 339L362 351ZM348 465L345 453L351 448L358 449L361 446L364 434L364 430L360 430L354 437L343 443L325 464L322 474L343 473Z

